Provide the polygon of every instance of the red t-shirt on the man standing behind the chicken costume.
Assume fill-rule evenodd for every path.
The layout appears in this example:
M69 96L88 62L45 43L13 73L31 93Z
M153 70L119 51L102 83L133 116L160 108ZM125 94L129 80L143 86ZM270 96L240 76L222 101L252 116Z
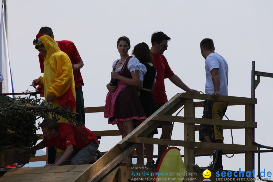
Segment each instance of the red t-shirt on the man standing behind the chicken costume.
M77 64L80 60L82 60L81 56L79 55L79 52L74 45L73 42L69 40L61 40L57 41L59 48L61 49L62 52L65 52L67 56L69 57L70 61L72 64ZM39 62L40 62L40 67L41 67L41 73L44 72L44 61L45 58L42 55L38 55L39 57ZM83 77L81 75L81 71L79 69L73 71L74 75L74 80L75 80L75 87L83 86Z

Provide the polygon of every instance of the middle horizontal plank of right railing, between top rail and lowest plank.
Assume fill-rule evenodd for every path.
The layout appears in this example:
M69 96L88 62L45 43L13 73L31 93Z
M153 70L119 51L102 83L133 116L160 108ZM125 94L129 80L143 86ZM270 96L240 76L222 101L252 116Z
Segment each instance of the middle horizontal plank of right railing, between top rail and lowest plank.
M183 116L157 115L155 118L153 118L153 120L172 121L172 122L178 122L178 123L197 123L197 124L257 128L256 122L234 121L234 120L216 120L216 119L194 118L194 117L183 117Z

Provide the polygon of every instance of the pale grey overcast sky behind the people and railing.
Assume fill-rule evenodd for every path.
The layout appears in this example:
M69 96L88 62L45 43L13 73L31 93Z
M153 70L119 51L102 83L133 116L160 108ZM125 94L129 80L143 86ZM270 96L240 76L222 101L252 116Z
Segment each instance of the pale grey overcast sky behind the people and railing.
M6 0L8 48L15 92L34 91L32 80L40 73L38 51L32 45L42 26L52 28L55 40L70 40L76 45L84 62L81 69L85 107L104 106L110 81L111 66L120 55L116 41L127 36L133 46L146 42L151 46L151 35L162 31L171 37L164 56L173 72L191 89L204 92L205 60L200 53L204 38L214 41L215 52L223 56L229 66L228 92L230 96L251 97L251 68L273 72L270 56L273 48L272 6L270 0ZM165 79L168 98L184 92ZM273 79L261 77L256 89L255 142L273 146L270 116L273 102ZM196 109L196 117L203 114ZM244 120L244 106L229 106L230 120ZM178 116L183 116L181 112ZM86 127L90 130L117 130L107 124L103 113L87 113ZM175 123L172 139L184 140L184 124ZM232 130L235 144L244 144L244 130ZM39 132L41 133L41 131ZM159 134L155 138L160 137ZM224 143L231 143L230 130L224 130ZM103 137L100 151L112 148L121 136ZM195 133L198 141L198 132ZM184 147L179 147L184 154ZM39 152L43 153L43 152ZM155 146L154 154L157 154ZM261 154L261 169L273 171L273 153ZM255 154L257 171L257 154ZM208 166L212 159L196 157L199 166ZM27 166L42 166L29 163ZM232 158L223 156L225 170L244 170L244 154Z

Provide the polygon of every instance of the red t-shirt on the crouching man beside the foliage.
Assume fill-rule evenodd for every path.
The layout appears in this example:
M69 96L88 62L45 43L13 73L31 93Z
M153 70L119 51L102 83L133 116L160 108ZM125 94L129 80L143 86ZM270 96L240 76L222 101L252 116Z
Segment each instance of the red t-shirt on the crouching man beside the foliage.
M66 147L73 145L73 149L87 146L91 141L98 143L97 136L92 131L83 126L75 126L72 123L58 123L59 136L48 140L43 139L45 147L57 147L61 150L66 150ZM84 135L84 136L83 136Z

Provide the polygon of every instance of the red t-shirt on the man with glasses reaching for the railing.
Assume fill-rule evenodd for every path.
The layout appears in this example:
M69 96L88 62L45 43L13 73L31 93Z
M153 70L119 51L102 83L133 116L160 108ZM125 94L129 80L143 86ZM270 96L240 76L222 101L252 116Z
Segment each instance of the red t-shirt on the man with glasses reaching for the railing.
M172 69L167 62L167 59L162 54L157 55L152 52L152 64L157 70L156 83L152 92L154 103L162 104L168 102L167 94L165 91L165 78L170 78L174 75Z

